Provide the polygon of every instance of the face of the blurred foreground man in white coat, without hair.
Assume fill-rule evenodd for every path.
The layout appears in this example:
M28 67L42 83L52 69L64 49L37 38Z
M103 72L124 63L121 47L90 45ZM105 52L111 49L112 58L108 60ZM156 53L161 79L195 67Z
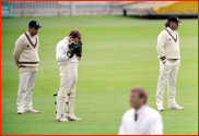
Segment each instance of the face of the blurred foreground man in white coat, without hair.
M140 98L139 92L130 92L130 106L138 110L143 104L143 98Z

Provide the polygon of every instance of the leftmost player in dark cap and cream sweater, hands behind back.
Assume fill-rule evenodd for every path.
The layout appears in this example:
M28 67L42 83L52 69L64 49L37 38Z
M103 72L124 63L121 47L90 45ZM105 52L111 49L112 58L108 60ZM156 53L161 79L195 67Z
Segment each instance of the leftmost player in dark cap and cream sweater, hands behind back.
M31 21L28 23L28 30L22 34L15 41L13 55L20 71L20 85L16 99L17 114L39 112L33 109L32 97L39 65L37 33L40 27L37 21Z

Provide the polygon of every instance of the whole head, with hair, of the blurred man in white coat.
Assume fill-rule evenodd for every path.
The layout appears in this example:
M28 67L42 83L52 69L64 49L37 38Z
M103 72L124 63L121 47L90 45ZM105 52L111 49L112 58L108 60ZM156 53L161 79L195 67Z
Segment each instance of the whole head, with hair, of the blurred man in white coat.
M130 90L129 102L130 106L138 110L141 106L147 103L147 91L143 87L133 87Z

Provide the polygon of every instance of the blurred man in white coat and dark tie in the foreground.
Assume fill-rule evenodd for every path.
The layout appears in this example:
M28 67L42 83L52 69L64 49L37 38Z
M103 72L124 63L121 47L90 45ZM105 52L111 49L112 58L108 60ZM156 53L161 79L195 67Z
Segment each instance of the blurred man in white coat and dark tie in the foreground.
M122 115L118 135L163 135L162 116L147 104L145 89L132 88L129 99L132 109Z

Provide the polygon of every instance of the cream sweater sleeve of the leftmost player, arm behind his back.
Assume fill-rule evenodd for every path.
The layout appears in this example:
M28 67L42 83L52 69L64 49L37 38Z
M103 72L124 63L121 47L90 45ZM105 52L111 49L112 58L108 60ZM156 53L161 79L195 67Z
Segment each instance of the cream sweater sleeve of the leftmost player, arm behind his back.
M23 47L24 47L24 40L23 40L23 37L21 36L15 41L15 48L13 51L13 57L14 57L14 61L15 61L16 65L19 63L20 54L22 53Z

